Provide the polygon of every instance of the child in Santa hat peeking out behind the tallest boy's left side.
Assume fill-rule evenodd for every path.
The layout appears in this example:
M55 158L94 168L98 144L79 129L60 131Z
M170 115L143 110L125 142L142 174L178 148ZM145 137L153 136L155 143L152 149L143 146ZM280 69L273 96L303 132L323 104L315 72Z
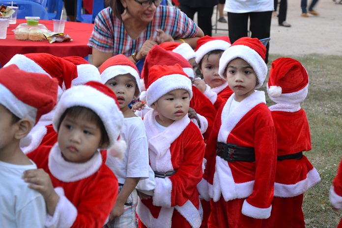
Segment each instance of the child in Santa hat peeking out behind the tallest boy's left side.
M219 76L219 60L229 46L228 36L204 36L197 40L195 60L203 80L196 79L194 84L214 104L216 110L233 93L227 81Z

